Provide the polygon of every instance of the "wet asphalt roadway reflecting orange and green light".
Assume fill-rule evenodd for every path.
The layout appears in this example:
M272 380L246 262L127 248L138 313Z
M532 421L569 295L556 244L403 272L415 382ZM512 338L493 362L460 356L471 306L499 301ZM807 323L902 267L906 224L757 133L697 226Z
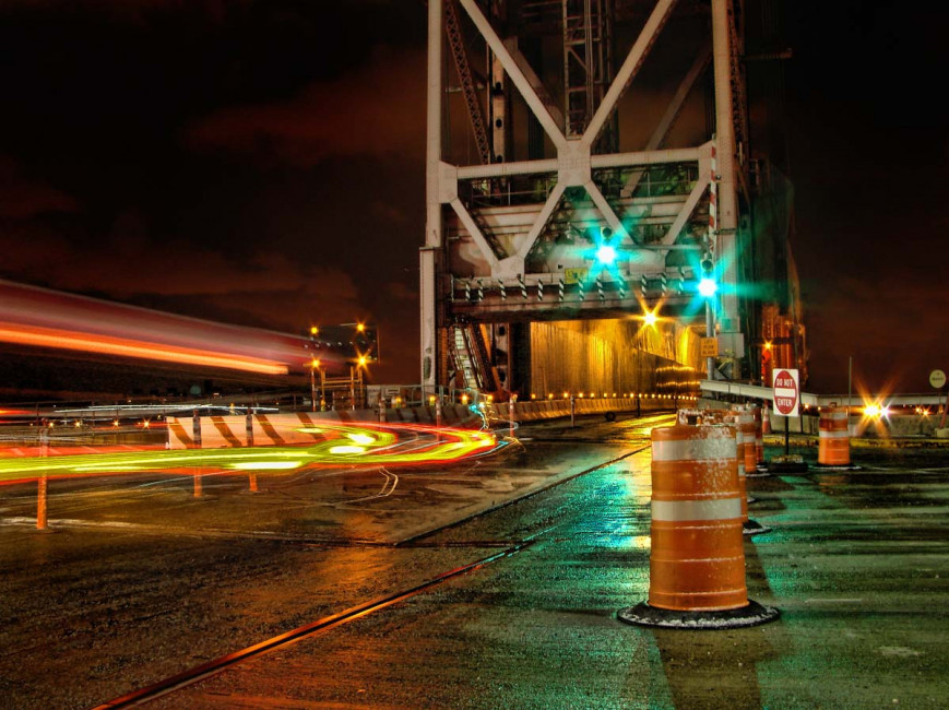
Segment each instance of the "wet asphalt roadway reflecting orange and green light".
M489 459L259 494L62 481L51 533L29 525L35 484L4 486L2 705L94 707L300 629L149 707L945 707L949 449L749 478L773 526L746 542L749 593L782 618L651 630L616 611L648 593L645 447L667 419L534 424Z

